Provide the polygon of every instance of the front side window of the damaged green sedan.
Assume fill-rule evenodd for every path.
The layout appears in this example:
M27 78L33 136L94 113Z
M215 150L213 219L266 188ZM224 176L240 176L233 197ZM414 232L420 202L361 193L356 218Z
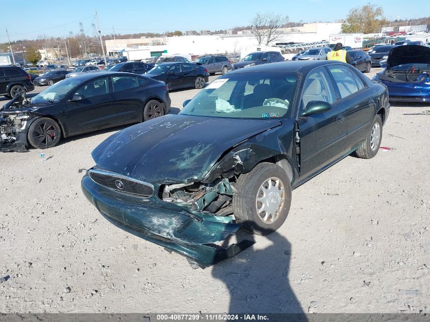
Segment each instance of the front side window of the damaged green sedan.
M301 109L304 110L310 101L324 101L332 104L335 99L333 86L329 75L323 68L311 72L305 82L301 100Z

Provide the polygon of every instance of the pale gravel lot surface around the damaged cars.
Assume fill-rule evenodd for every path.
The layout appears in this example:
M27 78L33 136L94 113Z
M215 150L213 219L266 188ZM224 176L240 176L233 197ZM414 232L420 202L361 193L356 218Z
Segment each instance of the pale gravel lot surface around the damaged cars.
M174 110L195 93L172 92ZM65 139L44 162L40 150L0 153L0 312L429 313L429 110L392 106L391 151L302 185L276 233L205 270L84 198L78 169L121 128Z

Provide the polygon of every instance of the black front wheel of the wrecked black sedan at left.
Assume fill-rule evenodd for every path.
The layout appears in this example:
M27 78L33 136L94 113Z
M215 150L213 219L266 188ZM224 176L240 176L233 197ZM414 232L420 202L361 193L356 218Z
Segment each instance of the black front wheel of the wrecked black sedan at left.
M61 139L61 128L50 118L37 119L28 128L28 142L37 149L55 147Z

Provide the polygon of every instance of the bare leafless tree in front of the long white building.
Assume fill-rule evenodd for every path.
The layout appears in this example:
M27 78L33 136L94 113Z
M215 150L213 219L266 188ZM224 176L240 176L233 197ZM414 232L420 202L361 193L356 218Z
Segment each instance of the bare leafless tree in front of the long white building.
M252 32L259 42L259 45L261 45L263 41L268 45L279 38L281 35L281 28L289 22L289 17L273 12L259 12L250 22Z

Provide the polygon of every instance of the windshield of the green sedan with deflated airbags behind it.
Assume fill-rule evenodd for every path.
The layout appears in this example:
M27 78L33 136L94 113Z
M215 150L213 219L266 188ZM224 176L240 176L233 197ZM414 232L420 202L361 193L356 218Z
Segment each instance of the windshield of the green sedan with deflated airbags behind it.
M296 72L240 73L217 78L179 114L217 118L291 117Z

